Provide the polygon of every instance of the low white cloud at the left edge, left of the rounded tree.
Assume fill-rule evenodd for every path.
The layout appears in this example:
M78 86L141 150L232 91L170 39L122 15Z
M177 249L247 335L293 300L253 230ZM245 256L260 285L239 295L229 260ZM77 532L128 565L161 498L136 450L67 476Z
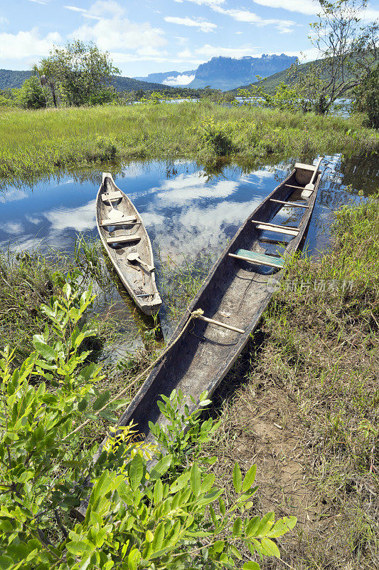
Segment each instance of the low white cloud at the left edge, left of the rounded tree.
M0 33L0 58L23 59L26 56L47 56L55 43L62 38L56 31L50 32L41 38L38 28L18 33Z

